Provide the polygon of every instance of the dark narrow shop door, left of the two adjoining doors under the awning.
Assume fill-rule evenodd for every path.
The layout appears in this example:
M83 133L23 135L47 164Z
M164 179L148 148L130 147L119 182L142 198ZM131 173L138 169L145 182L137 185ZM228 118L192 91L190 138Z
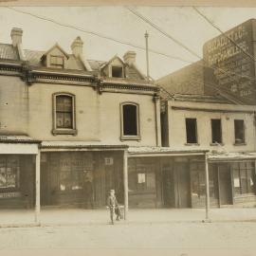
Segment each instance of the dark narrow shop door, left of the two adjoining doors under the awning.
M175 207L174 170L171 165L163 165L163 199L167 208Z

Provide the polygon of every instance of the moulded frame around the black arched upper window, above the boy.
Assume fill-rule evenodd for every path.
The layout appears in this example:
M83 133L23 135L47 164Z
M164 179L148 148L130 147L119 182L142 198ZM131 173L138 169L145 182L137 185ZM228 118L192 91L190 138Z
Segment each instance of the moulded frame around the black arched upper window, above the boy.
M123 106L134 105L137 107L137 135L124 135L123 133ZM140 140L140 118L139 118L139 105L137 102L125 101L120 103L120 140Z

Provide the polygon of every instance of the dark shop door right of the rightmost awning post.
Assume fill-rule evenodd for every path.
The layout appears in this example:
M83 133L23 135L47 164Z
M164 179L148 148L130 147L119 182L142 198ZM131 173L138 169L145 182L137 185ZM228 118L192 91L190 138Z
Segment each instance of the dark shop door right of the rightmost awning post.
M218 167L219 172L219 190L220 190L220 204L230 205L231 200L231 177L228 164L221 164Z

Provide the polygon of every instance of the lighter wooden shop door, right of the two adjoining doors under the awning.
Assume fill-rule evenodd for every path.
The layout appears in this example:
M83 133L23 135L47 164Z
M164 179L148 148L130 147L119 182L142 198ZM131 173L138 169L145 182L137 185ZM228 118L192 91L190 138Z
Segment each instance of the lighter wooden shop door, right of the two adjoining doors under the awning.
M177 175L178 207L191 207L190 172L188 163L175 163Z

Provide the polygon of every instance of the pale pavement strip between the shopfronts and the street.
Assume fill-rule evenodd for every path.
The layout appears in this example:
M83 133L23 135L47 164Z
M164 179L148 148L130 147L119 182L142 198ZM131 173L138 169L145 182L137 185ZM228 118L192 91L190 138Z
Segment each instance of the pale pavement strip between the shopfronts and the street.
M141 209L129 210L123 224L174 222L256 222L256 208L211 209L206 220L204 209ZM104 225L109 222L108 210L43 209L41 226ZM35 225L34 210L0 210L0 228Z

